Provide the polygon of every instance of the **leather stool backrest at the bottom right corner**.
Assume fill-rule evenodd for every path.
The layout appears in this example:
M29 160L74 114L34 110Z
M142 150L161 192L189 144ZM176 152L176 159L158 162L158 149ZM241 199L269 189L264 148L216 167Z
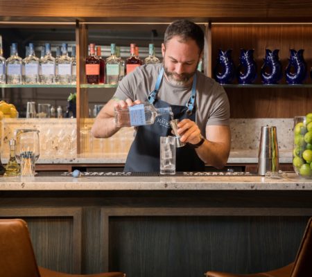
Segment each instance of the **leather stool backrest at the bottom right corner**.
M312 276L312 217L300 244L291 277Z

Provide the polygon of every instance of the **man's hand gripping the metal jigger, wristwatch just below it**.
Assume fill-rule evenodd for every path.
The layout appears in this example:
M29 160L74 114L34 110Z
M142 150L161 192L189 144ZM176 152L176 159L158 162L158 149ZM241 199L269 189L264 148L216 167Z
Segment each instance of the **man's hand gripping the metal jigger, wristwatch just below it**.
M200 129L190 119L183 119L177 123L177 134L180 134L182 143L197 144L200 142Z

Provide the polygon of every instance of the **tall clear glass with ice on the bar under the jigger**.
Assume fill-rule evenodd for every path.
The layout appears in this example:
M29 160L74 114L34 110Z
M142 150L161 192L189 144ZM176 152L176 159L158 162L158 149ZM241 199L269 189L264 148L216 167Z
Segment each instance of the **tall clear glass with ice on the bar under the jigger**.
M175 175L175 137L160 137L160 174Z

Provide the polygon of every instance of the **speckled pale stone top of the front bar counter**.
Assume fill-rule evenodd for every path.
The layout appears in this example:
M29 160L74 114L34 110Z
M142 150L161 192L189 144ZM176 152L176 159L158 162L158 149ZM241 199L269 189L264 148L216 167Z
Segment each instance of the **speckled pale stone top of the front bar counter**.
M312 190L312 179L261 176L1 177L0 190Z

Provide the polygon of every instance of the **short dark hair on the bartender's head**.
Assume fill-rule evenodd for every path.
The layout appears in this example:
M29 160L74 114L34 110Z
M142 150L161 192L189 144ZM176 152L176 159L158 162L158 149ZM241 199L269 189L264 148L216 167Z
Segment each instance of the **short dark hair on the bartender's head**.
M200 53L202 53L205 45L205 35L202 28L197 24L185 19L173 21L168 28L166 28L164 44L166 45L166 43L175 36L181 37L183 41L187 41L187 39L195 40L200 49Z

